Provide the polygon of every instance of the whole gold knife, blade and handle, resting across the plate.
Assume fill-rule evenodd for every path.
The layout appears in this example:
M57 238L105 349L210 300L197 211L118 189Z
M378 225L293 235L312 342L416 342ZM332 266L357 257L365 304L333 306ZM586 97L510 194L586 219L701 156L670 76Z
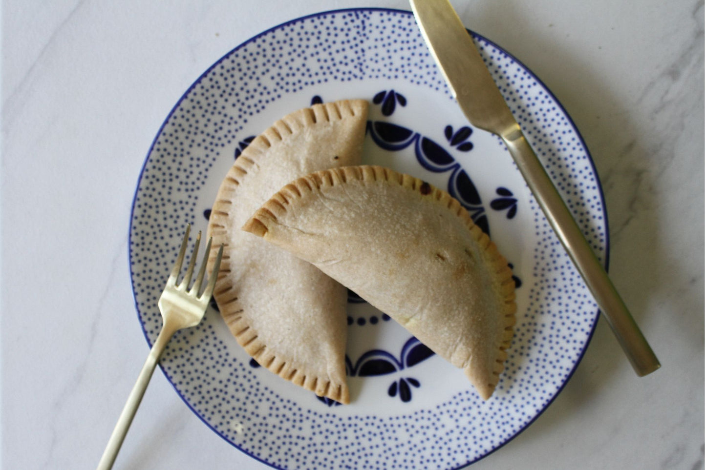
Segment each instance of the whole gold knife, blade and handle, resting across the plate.
M448 0L410 0L414 17L469 122L498 135L640 377L660 367L650 344L561 199Z

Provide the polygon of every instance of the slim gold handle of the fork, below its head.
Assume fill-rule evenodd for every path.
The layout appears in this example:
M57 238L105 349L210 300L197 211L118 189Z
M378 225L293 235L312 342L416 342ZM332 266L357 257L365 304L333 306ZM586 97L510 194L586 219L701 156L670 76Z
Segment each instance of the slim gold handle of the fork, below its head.
M128 401L126 402L118 422L113 429L112 435L108 440L108 445L105 447L103 456L98 462L97 470L109 470L112 469L113 463L115 462L115 457L117 457L125 435L128 433L128 428L132 423L135 413L140 406L142 397L145 394L147 385L150 383L150 378L152 378L152 373L155 371L157 363L160 361L160 356L164 352L164 348L167 347L169 339L172 338L174 332L177 330L168 327L167 324L162 327L160 334L157 336L155 344L150 349L150 354L147 356L147 361L145 365L142 366L140 370L140 375L138 375L137 382L135 383L133 390L128 396Z

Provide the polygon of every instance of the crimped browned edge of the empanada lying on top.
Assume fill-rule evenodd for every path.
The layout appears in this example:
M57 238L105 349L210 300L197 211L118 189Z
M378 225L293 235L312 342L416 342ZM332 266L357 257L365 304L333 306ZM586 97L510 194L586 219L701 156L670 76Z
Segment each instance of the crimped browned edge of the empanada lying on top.
M275 193L255 214L244 224L243 230L253 234L267 238L268 226L273 222L277 222L277 217L282 217L288 210L289 205L297 198L305 198L307 195L312 195L315 191L325 190L327 187L345 184L347 181L378 181L385 180L388 182L398 183L400 186L408 188L410 191L417 191L421 197L428 197L435 200L436 203L450 210L457 217L460 217L471 231L474 239L479 243L479 246L484 250L485 255L491 267L495 267L493 272L493 286L496 287L496 295L499 303L503 307L503 311L498 312L503 319L503 332L496 339L496 359L495 366L491 373L492 380L487 384L478 383L468 373L467 366L462 369L466 371L466 375L472 380L474 387L478 390L483 399L489 399L496 385L500 380L500 374L505 369L505 359L508 354L506 349L510 347L513 339L513 325L515 325L515 312L517 305L515 303L515 280L513 272L508 266L507 260L498 251L498 248L487 234L484 233L471 219L468 211L463 207L458 200L453 198L448 192L443 191L435 186L415 178L408 174L399 173L393 169L380 167L376 165L358 165L354 167L339 167L316 171L312 174L302 176L299 179L287 184L280 191Z

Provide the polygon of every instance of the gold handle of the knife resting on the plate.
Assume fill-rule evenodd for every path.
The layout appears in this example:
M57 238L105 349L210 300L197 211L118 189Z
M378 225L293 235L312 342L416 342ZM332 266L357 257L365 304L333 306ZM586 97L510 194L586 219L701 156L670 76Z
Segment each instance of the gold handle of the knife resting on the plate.
M500 134L500 137L510 150L510 155L515 159L537 203L542 207L546 219L593 294L635 372L640 377L654 372L660 366L657 356L640 332L633 315L630 315L618 291L561 199L561 195L556 191L549 175L544 171L542 163L527 143L520 126L513 123Z

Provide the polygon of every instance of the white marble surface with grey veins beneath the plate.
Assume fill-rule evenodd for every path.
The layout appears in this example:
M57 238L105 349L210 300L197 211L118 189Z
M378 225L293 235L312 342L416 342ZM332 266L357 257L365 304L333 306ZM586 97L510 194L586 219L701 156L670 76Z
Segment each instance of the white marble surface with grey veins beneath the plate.
M695 0L454 0L544 80L602 178L611 276L662 369L637 378L601 320L549 409L477 469L704 466L704 8ZM639 6L638 6L639 5ZM2 4L1 463L94 468L148 352L127 262L160 124L261 30L405 1ZM265 469L157 371L120 469Z

